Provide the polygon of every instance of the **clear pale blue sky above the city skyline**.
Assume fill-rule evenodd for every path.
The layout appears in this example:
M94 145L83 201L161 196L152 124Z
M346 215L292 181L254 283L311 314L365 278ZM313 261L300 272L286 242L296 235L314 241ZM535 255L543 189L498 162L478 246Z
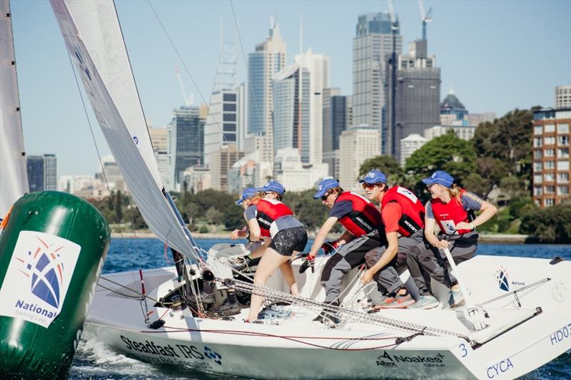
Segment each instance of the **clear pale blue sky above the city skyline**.
M225 40L236 38L229 1L152 1L183 60L208 101ZM234 1L246 53L280 24L288 63L303 48L330 57L331 86L352 93L353 37L358 15L388 10L386 1ZM571 1L425 1L433 8L428 51L442 68L441 98L453 87L470 112L503 115L514 108L553 106L555 86L571 83ZM174 74L182 67L147 1L117 1L116 8L148 122L166 125L183 103ZM58 175L93 174L94 144L71 72L63 38L47 1L12 1L24 143L29 155L56 153ZM418 2L395 1L401 34L420 37ZM245 81L243 57L238 57ZM188 93L201 103L184 73ZM91 106L88 106L91 116ZM91 123L103 154L108 148L95 118Z

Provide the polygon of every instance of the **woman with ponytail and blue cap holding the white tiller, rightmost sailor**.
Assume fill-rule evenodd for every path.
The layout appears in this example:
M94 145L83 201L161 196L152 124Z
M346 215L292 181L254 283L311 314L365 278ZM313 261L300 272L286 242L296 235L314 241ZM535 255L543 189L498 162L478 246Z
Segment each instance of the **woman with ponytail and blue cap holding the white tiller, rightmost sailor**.
M497 213L497 208L473 192L458 187L454 178L443 170L425 178L423 183L432 199L425 207L424 235L427 245L417 245L407 255L410 275L421 296L410 308L431 309L440 304L432 294L430 277L451 287L450 298L444 308L455 307L463 302L464 297L458 281L448 273L442 250L449 248L457 265L474 257L478 238L476 227L490 220ZM469 210L480 210L481 213L470 221ZM435 224L440 227L438 235L434 232Z

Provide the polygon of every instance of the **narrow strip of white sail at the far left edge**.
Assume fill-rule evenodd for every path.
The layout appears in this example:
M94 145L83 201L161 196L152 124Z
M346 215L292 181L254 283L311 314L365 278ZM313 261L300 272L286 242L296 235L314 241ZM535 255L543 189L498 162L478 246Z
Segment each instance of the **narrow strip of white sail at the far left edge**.
M8 0L0 0L0 218L29 192Z

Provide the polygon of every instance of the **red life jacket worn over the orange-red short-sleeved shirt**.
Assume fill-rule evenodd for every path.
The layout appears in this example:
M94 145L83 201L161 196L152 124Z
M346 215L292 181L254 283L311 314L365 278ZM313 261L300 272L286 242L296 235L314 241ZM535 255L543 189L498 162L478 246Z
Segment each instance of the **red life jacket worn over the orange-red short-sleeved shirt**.
M403 215L398 220L400 235L410 236L424 227L424 205L412 191L400 186L390 188L380 202L380 210L391 202L398 203L403 210Z

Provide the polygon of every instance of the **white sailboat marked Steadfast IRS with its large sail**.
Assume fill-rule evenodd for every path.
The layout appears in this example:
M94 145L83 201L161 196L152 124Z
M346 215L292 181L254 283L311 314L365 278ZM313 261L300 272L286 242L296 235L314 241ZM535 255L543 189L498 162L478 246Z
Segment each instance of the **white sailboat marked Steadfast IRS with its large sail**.
M457 269L475 307L371 314L358 299L375 297L376 290L364 289L354 269L343 282L335 325L312 321L325 307L319 279L326 257L318 257L315 272L296 274L300 297L286 292L279 274L266 287L232 279L216 247L207 257L196 245L164 190L113 3L51 0L51 6L141 215L159 239L193 262L184 282L174 267L101 279L86 323L116 351L256 378L514 379L571 348L571 263L562 260L480 255ZM247 307L228 318L194 312L174 296L203 281L204 268L217 281L218 303L221 289L234 287L282 304L268 305L261 323L244 322Z

